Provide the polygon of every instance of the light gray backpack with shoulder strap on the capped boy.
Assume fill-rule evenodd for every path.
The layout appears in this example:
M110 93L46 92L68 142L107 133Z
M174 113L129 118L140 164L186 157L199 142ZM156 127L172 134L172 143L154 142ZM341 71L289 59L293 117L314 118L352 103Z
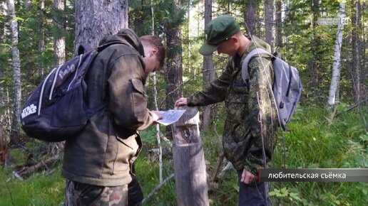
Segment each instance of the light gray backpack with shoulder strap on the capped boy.
M275 97L279 123L284 131L287 131L286 124L290 121L292 114L297 108L300 95L302 94L302 82L300 81L297 68L292 67L284 60L275 57L262 48L252 50L242 63L242 80L249 82L248 63L255 55L267 54L272 56L272 65L274 71L274 82L272 93Z

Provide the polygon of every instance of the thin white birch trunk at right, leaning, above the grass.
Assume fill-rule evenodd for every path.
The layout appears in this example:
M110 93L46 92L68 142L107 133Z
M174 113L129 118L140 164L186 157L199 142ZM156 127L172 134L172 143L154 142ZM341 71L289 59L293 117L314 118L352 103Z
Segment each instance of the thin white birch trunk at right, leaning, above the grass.
M339 3L340 5L340 19L345 17L345 5L344 1ZM338 91L339 80L340 80L340 53L341 53L341 46L342 46L342 33L344 31L344 24L339 22L337 26L337 34L336 40L334 43L334 63L332 64L332 79L331 85L329 85L329 97L327 100L327 107L332 108L334 106L334 102L336 99L336 94Z

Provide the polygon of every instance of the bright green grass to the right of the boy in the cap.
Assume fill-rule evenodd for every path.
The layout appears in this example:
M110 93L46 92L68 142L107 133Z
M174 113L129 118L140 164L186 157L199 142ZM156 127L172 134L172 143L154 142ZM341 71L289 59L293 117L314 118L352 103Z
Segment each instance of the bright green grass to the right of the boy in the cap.
M297 111L285 133L287 168L368 168L367 134L359 112L333 116L324 109ZM366 114L367 108L363 114ZM364 138L363 138L364 139ZM284 162L282 137L272 162ZM284 188L285 194L281 197ZM282 205L368 205L367 183L273 183L273 200ZM293 195L290 195L293 194ZM277 195L279 197L277 197Z

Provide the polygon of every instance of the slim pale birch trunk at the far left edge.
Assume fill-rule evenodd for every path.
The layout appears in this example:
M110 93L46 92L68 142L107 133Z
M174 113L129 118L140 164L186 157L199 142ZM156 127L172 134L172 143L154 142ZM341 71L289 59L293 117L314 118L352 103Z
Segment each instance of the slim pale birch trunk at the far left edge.
M13 65L13 80L14 80L14 114L11 125L11 139L12 144L17 144L20 141L19 131L21 130L21 60L19 58L18 49L18 22L16 21L16 13L14 7L14 0L7 0L8 12L10 17L11 27L11 55Z

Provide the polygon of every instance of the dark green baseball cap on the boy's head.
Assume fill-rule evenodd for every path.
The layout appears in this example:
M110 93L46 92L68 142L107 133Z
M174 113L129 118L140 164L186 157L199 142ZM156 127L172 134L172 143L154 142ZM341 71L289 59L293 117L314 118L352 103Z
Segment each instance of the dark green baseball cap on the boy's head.
M238 31L240 31L239 24L232 16L223 15L214 18L205 28L205 43L200 46L200 54L212 54L218 49L220 43L228 40Z

